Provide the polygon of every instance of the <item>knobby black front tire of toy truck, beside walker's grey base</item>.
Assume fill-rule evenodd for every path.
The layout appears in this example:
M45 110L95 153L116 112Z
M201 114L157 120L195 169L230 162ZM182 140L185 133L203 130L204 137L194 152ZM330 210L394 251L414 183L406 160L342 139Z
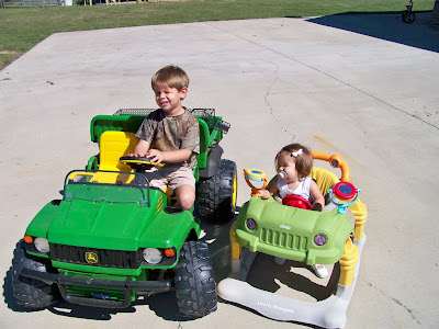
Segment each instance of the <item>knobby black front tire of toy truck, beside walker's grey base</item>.
M175 268L179 311L187 318L201 318L217 307L215 279L207 245L184 242Z

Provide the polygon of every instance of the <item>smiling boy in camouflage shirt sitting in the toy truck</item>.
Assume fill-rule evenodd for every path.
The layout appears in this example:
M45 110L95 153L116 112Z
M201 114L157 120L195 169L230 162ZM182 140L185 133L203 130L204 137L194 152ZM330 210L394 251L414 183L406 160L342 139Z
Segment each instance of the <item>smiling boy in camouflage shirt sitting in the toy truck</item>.
M195 201L195 179L192 169L200 152L199 122L181 105L188 93L189 78L177 66L166 66L151 79L156 102L160 107L142 123L134 157L151 158L166 166L146 172L151 186L171 189L177 196L175 207L191 209Z

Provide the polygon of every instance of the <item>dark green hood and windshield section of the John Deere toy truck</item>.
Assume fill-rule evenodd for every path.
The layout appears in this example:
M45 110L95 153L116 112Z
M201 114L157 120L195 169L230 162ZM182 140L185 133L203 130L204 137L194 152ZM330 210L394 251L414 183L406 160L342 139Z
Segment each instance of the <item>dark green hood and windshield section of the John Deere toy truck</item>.
M173 263L145 262L136 269L52 260L57 269L126 277L138 276L146 269L173 268L183 242L188 237L196 239L201 232L199 218L189 211L168 209L166 194L156 189L83 182L66 184L64 194L63 201L43 207L29 225L26 235L47 238L49 243L90 249L175 248L177 257ZM145 200L149 200L149 206Z

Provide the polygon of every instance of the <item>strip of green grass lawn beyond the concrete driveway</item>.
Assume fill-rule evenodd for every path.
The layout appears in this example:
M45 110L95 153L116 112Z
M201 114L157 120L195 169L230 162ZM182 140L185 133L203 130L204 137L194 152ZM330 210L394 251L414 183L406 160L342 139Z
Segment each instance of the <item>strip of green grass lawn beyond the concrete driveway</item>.
M431 11L435 0L416 0ZM202 21L402 12L408 0L211 0L0 9L0 69L56 32Z

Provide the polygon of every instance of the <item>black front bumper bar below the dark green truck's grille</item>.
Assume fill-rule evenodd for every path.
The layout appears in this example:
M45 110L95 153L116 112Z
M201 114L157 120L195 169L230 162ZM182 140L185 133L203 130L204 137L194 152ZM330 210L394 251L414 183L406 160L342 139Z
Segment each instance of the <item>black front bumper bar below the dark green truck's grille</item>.
M30 269L22 269L20 275L44 281L47 283L56 283L58 285L63 298L69 303L85 305L85 306L105 307L105 308L128 307L131 305L132 291L161 293L161 292L167 292L171 288L170 281L131 281L130 279L125 281L102 280L93 277L69 276L63 274L40 272ZM103 290L120 290L124 291L124 299L109 300L109 299L99 299L92 297L88 298L88 297L72 296L67 293L66 285L82 286L90 288L103 288Z

